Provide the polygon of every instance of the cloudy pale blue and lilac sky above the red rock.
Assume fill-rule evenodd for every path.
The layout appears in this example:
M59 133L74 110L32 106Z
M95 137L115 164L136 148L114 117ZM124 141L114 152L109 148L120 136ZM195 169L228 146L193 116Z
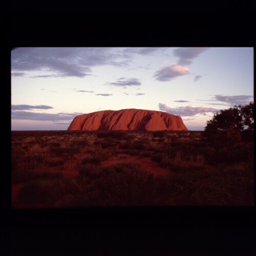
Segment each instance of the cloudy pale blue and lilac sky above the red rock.
M253 48L15 48L11 129L67 130L102 110L144 109L202 131L216 112L253 102Z

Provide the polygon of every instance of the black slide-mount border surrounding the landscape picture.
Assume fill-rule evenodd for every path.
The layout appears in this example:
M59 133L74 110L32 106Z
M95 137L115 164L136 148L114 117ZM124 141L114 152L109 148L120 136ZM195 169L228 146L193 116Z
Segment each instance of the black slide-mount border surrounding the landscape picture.
M175 6L161 12L159 9L154 11L154 8L148 12L143 8L134 11L136 6L133 6L118 13L110 7L108 13L103 8L93 12L88 9L77 11L76 8L63 12L48 9L44 12L40 8L31 11L19 7L2 17L5 26L6 84L10 84L10 49L13 47L254 47L252 24L255 13L252 8L239 8L238 5L234 5L233 9L222 5L205 10L188 6L183 11ZM10 88L6 86L4 91L7 95L2 101L7 115L5 120L9 120L4 127L8 134L5 136L4 157L7 160L5 169L10 169ZM65 252L64 248L69 248L66 252L70 255L77 254L80 249L89 252L102 249L111 255L111 249L105 248L112 244L112 240L114 248L127 240L131 242L130 246L140 240L139 245L145 245L154 252L175 248L177 255L184 250L193 251L197 243L201 244L197 252L202 251L204 255L216 252L217 244L245 254L246 250L253 248L251 233L254 234L255 229L255 207L12 210L10 174L4 175L6 181L2 194L8 195L4 200L4 239L7 239L6 244L9 243L6 252L10 255L18 255L20 251L25 251L27 255L38 255L39 252L44 252L40 255L50 254L49 245L55 248L54 252L62 249ZM246 247L238 249L242 240ZM120 253L125 254L130 246L123 247Z

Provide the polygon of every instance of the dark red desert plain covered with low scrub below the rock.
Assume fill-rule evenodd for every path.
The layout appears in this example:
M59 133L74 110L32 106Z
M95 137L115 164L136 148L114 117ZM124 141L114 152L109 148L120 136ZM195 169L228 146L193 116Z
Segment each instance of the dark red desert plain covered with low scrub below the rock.
M252 206L254 142L202 131L12 131L12 207Z

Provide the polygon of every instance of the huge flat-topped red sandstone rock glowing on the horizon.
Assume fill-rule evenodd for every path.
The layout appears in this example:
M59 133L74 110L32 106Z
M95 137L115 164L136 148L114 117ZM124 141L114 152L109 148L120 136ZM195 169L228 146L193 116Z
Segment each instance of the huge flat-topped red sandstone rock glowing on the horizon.
M180 116L152 110L104 110L76 116L68 131L188 131Z

